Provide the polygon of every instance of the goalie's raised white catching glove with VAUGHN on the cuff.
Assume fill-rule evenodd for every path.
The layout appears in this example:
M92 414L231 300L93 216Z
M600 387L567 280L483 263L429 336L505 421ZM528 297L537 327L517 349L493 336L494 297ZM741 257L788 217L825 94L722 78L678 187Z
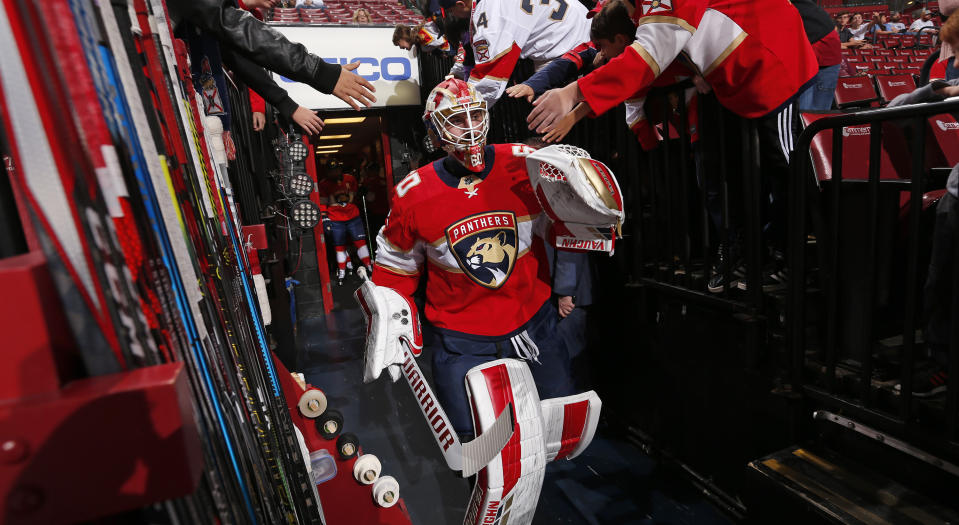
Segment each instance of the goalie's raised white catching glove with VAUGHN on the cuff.
M526 171L556 234L556 247L613 253L626 217L613 172L575 146L547 146L526 157Z

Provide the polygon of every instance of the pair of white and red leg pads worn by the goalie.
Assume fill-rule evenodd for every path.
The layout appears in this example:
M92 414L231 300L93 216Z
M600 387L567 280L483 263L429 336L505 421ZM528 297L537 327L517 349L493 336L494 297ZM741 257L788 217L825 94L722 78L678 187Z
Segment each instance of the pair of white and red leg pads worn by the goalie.
M574 457L589 445L599 417L599 397L588 392L541 402L529 367L517 359L499 359L470 369L466 391L477 434L489 428L510 403L515 426L503 450L477 474L463 523L529 525L546 462ZM590 413L593 410L595 414ZM551 442L554 436L556 443Z

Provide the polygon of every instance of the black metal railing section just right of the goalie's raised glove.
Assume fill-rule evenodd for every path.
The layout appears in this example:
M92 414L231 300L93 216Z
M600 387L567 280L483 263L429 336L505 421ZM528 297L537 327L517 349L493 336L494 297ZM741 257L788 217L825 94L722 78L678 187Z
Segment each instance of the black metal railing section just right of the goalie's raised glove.
M723 108L712 94L695 94L690 81L651 90L645 108L659 129L658 146L640 156L641 213L631 231L642 254L638 279L661 291L730 311L759 311L760 286L736 287L737 278L762 276L763 192L756 122ZM695 119L691 120L690 113ZM695 135L695 137L693 137ZM723 245L728 264L717 265ZM745 263L745 276L734 273ZM707 291L713 273L721 290Z

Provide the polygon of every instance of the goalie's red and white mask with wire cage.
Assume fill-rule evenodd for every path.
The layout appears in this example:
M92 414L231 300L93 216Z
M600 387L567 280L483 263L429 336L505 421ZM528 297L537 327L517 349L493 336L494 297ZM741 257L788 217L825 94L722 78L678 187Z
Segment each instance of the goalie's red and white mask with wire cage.
M426 99L423 121L434 145L446 150L466 169L483 171L489 112L486 101L473 86L455 78L440 82Z

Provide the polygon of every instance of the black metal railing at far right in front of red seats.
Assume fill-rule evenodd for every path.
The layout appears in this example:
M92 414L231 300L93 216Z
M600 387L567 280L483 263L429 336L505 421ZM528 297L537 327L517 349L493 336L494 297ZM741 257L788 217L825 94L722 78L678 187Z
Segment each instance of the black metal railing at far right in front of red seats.
M926 161L927 119L956 111L955 101L884 108L822 118L805 129L790 165L787 314L795 389L849 417L952 457L959 456L959 338L953 336L949 349L951 375L944 404L918 402L912 377L923 319L921 278L926 268L921 262L928 253L923 239L931 229L923 223L921 203L924 192L943 187L937 180L941 171L930 169L935 166ZM866 126L868 153L844 150L844 135ZM900 163L890 174L884 143L902 129L908 172ZM830 131L831 177L817 183L811 175L813 141ZM824 152L818 153L823 158ZM844 177L839 159L846 155L868 162L866 179ZM959 268L951 271L959 278ZM959 296L959 287L952 293ZM953 333L959 325L956 312ZM898 392L893 386L897 377ZM919 419L932 423L921 426Z

